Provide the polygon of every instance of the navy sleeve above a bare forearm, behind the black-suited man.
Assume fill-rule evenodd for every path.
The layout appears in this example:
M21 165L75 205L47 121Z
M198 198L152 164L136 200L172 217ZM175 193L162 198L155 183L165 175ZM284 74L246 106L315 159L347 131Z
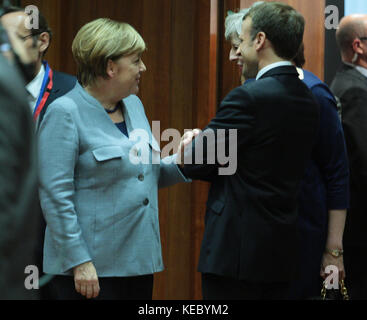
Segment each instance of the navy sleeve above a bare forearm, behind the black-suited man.
M320 127L314 159L327 186L328 210L349 206L349 169L343 128L336 101L326 88L319 85L312 93L320 104Z

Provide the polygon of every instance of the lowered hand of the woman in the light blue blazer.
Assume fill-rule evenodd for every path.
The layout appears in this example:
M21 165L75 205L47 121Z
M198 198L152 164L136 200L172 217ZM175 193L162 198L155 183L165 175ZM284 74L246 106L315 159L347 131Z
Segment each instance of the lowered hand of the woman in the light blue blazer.
M74 268L75 290L87 299L97 298L100 287L96 268L92 262Z

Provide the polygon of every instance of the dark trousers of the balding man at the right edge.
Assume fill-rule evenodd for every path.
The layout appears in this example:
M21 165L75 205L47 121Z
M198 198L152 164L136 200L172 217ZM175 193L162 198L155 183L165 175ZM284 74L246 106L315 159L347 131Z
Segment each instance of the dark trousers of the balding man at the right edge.
M367 300L366 249L366 247L344 246L345 285L352 300Z

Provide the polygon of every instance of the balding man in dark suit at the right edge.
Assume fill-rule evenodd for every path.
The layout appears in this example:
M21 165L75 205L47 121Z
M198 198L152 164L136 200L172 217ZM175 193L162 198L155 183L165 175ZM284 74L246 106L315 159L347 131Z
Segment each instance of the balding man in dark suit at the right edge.
M367 299L367 15L344 17L336 34L343 66L331 90L341 103L350 165L350 210L344 233L346 284Z

